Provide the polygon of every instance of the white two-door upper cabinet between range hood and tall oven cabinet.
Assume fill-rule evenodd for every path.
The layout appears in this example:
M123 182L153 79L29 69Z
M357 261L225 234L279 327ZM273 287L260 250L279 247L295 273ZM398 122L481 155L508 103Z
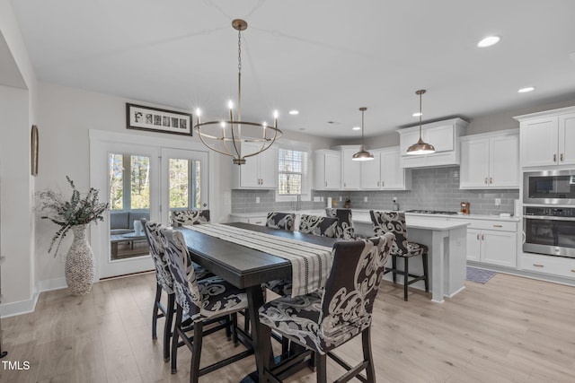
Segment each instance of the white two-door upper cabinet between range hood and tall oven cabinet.
M459 187L519 188L518 130L461 137Z

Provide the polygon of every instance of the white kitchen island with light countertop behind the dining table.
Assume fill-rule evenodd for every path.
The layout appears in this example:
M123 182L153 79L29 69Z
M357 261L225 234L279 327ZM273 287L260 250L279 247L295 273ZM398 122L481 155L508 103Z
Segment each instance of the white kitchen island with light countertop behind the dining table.
M322 210L293 213L323 215L325 212ZM265 213L233 213L230 217L230 222L253 221L252 223L265 224ZM374 231L368 211L353 210L353 223L359 235L373 236ZM406 214L406 223L409 239L429 247L431 300L442 302L444 297L453 297L457 292L461 292L465 287L466 237L469 223L458 220L429 220L418 217L417 214ZM391 260L389 262L391 263ZM420 262L412 262L410 271L413 274L422 273L421 267ZM385 279L391 280L391 274L385 274ZM411 287L423 290L423 281L413 283Z

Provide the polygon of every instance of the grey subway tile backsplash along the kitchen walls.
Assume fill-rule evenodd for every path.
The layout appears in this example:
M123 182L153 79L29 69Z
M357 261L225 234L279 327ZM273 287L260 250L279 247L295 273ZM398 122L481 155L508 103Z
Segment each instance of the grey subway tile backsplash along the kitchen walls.
M232 213L257 213L270 211L296 210L296 202L276 202L275 190L232 190ZM322 209L327 197L337 201L343 207L349 197L351 207L356 209L393 208L394 196L401 210L429 209L459 211L461 202L469 202L471 213L513 213L513 201L519 198L518 189L459 189L459 167L429 168L411 170L411 190L374 190L374 191L312 191L314 196L323 196L324 202L300 202L300 210ZM260 203L256 198L260 197ZM341 197L341 202L340 202ZM365 198L367 197L367 202ZM495 205L495 198L501 199L501 205Z

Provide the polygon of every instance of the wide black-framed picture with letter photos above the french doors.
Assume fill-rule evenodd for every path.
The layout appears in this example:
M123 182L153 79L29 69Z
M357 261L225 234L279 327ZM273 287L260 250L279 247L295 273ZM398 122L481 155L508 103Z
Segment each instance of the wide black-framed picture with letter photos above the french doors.
M145 107L128 102L126 103L126 127L172 135L193 135L190 113Z

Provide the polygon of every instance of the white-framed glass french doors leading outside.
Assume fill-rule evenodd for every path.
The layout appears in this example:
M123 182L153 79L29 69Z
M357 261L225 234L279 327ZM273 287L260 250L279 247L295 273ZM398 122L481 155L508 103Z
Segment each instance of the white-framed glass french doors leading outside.
M155 269L138 232L142 217L169 225L173 210L208 209L210 156L194 144L185 145L192 150L168 147L178 145L184 146L91 133L90 183L110 203L107 219L90 228L98 279Z

